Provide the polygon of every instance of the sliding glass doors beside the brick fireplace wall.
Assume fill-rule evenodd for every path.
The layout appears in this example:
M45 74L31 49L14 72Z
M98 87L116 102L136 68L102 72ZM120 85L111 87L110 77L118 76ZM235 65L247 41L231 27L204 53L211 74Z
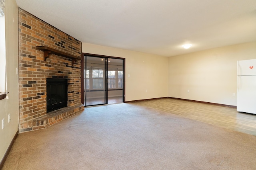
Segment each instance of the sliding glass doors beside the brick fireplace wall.
M124 58L83 54L84 106L124 102Z

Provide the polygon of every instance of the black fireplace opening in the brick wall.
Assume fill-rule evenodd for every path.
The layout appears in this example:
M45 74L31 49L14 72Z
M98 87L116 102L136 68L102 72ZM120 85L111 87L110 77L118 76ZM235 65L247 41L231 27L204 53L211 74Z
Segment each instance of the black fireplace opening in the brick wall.
M68 80L65 78L46 78L46 112L68 105Z

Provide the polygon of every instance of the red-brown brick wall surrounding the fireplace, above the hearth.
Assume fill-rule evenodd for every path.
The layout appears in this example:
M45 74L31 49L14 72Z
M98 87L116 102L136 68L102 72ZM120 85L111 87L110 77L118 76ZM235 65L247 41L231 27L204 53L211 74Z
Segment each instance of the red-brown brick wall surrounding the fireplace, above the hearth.
M53 55L44 61L36 46L48 46L81 57L82 43L52 25L18 9L20 132L46 114L46 78L68 78L68 106L81 104L81 60Z

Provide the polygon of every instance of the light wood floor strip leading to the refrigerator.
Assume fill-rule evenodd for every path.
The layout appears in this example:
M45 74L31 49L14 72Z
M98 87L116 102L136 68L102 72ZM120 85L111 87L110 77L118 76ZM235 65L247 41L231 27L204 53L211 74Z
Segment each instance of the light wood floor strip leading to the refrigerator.
M130 102L130 104L150 107L218 127L256 135L256 115L238 112L231 107L171 98Z

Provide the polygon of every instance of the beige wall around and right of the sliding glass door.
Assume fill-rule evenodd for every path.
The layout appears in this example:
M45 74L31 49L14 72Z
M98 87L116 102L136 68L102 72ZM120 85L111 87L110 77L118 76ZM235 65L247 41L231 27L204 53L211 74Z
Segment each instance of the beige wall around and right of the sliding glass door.
M168 96L168 57L88 43L82 52L126 59L126 101Z

